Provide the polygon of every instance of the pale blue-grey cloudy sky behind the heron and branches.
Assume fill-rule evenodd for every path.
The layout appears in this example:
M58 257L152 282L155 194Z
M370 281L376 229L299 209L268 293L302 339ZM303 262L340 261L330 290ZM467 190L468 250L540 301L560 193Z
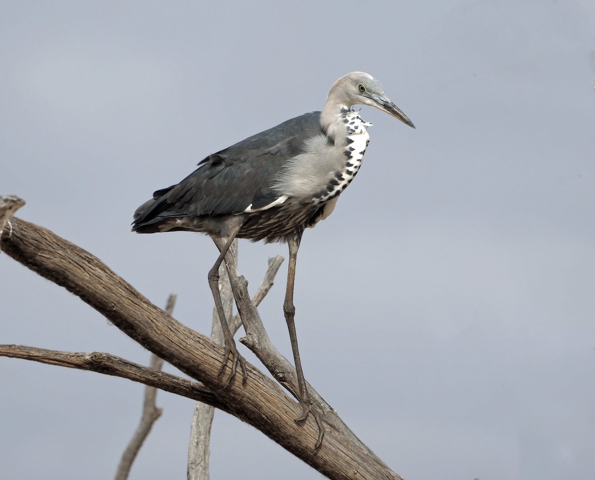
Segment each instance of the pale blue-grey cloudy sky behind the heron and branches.
M592 478L595 3L215 3L2 2L0 194L156 304L176 292L175 316L208 333L214 245L134 235L134 209L366 71L417 130L363 108L363 171L304 235L306 378L408 480ZM275 254L240 244L252 289ZM0 269L1 343L148 361L70 293ZM261 315L290 358L285 272ZM141 386L14 359L0 379L3 478L114 474ZM186 475L193 403L158 405L131 479ZM220 412L211 471L320 478Z

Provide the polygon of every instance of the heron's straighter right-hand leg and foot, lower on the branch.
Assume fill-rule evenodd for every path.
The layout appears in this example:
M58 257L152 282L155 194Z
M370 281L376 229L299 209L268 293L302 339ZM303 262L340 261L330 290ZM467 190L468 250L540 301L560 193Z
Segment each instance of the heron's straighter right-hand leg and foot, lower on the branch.
M283 304L283 312L285 314L285 321L287 322L287 329L289 330L289 339L292 342L293 360L296 365L297 375L297 387L299 389L298 399L299 404L302 406L302 415L296 418L296 422L303 422L308 418L308 414L312 412L316 423L318 425L318 440L314 449L320 448L322 444L322 438L324 438L324 425L320 414L315 410L312 410L312 400L308 393L308 387L306 387L306 379L303 377L302 362L299 358L299 349L297 348L297 334L295 326L295 305L293 305L293 285L295 283L296 274L296 260L297 250L299 250L299 244L302 240L302 232L295 232L288 241L289 247L289 267L287 269L287 289L285 290L285 302Z

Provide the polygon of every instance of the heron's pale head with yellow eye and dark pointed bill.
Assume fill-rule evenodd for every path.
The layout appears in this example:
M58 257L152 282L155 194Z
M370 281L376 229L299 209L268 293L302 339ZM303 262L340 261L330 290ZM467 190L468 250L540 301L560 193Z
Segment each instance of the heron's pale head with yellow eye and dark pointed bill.
M369 105L415 128L409 117L386 96L380 82L364 72L351 72L339 78L328 93L327 105L330 103L347 107Z

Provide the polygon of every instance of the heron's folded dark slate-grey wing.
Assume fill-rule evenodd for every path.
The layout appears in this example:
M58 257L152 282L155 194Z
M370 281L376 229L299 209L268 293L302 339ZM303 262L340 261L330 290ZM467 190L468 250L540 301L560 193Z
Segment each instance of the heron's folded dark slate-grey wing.
M320 112L305 113L206 157L179 184L158 190L137 209L133 230L173 217L242 213L280 195L271 183L283 163L303 152L306 139L322 134Z

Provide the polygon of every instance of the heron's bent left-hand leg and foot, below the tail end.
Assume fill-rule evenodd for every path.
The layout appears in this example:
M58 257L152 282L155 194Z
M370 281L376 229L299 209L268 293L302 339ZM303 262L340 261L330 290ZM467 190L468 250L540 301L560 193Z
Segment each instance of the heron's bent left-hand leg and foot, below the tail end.
M231 380L233 380L233 378L236 376L238 362L240 364L240 367L242 368L242 383L246 383L246 379L248 378L248 373L246 372L246 360L237 351L236 342L233 339L233 334L231 334L231 330L229 329L229 325L225 317L225 312L223 310L223 302L221 302L221 292L219 291L219 267L221 267L221 263L223 262L223 259L225 258L227 251L233 244L233 240L234 238L236 238L236 235L240 231L240 228L242 228L242 223L238 223L232 229L230 229L230 234L226 238L225 245L223 246L223 248L220 249L220 254L219 257L217 257L217 261L215 261L215 264L213 265L212 269L209 270L209 287L211 288L213 299L215 300L215 308L217 308L217 315L219 317L219 321L221 322L221 330L223 330L223 339L225 340L225 353L223 356L223 365L221 365L219 375L221 375L225 370L227 360L231 353L231 373L227 378L224 388L227 387L231 383ZM215 245L217 244L215 243Z

